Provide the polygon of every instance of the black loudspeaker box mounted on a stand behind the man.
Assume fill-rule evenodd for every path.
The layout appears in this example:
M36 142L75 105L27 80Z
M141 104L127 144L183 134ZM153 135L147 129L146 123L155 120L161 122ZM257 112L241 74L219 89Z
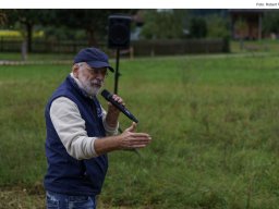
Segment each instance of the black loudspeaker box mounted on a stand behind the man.
M110 15L108 47L111 49L128 49L130 46L130 16Z

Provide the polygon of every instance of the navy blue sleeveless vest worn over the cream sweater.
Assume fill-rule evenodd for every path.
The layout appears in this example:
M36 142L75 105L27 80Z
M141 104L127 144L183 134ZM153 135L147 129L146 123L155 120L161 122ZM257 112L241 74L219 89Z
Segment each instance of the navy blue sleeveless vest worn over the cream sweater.
M50 106L58 97L68 97L77 104L80 113L85 120L88 136L104 137L106 135L101 120L101 108L97 98L86 97L69 75L46 106L48 171L45 176L45 188L66 195L95 196L100 193L107 173L107 155L88 160L76 160L66 152L49 114Z

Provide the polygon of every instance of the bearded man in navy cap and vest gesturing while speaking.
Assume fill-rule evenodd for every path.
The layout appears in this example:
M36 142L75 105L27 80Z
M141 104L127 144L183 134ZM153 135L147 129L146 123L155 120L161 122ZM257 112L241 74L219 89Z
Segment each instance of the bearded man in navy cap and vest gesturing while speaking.
M108 169L107 152L150 143L148 134L135 133L135 123L117 135L120 111L109 102L106 112L96 98L107 69L113 72L106 53L97 48L81 50L72 73L46 106L47 208L95 209ZM113 99L124 104L121 97Z

